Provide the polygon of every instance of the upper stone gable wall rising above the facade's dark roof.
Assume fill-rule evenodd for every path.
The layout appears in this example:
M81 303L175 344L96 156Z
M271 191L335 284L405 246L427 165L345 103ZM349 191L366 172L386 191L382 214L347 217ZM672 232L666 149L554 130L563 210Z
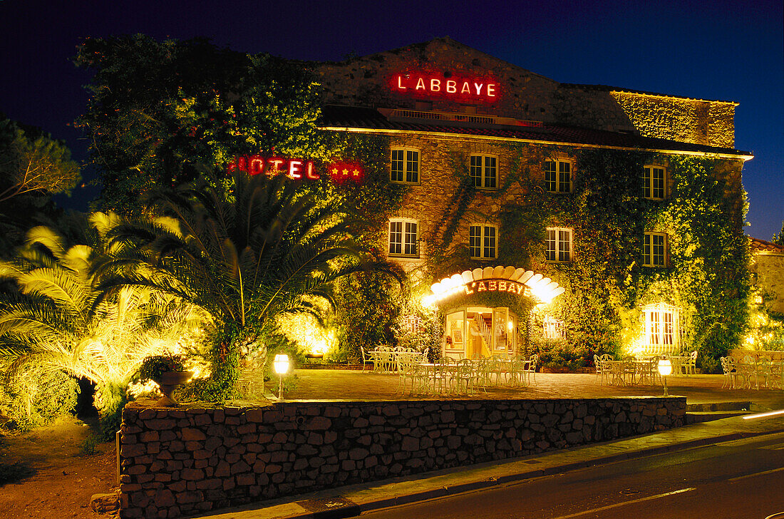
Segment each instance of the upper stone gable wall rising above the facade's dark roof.
M628 92L601 85L561 84L506 63L451 38L408 45L339 63L310 64L325 103L375 108L460 112L466 104L480 114L613 132L638 132L685 143L732 147L735 106ZM442 80L452 75L496 82L492 103L392 88L397 74L419 71Z

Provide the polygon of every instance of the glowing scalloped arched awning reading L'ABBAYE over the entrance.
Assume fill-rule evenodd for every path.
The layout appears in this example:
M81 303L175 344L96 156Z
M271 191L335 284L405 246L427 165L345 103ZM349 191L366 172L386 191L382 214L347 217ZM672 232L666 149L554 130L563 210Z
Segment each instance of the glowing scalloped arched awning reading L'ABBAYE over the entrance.
M432 294L423 297L422 303L430 307L452 296L480 294L481 292L507 292L528 296L541 303L550 303L565 289L556 281L523 268L485 267L466 270L430 285Z

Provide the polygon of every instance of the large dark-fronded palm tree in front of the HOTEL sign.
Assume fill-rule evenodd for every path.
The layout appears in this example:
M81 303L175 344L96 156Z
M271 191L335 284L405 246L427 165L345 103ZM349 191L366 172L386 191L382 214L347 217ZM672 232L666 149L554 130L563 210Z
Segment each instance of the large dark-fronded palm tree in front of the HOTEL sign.
M241 357L260 353L283 314L321 316L333 282L397 267L350 238L358 220L298 191L285 176L234 176L234 188L201 183L151 198L165 216L116 227L125 254L99 267L103 289L146 286L205 310L216 321L212 397L230 397ZM122 273L122 274L121 274Z

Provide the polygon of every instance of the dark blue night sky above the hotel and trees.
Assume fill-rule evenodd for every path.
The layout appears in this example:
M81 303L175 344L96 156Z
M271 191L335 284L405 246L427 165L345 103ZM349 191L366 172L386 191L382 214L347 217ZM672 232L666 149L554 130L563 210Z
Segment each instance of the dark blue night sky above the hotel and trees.
M212 39L247 53L342 60L449 36L559 82L731 100L747 234L770 240L784 220L784 35L781 0L711 2L82 2L0 0L0 111L67 140L89 74L71 58L87 36L144 33ZM91 176L85 172L85 176ZM86 209L96 188L62 205Z

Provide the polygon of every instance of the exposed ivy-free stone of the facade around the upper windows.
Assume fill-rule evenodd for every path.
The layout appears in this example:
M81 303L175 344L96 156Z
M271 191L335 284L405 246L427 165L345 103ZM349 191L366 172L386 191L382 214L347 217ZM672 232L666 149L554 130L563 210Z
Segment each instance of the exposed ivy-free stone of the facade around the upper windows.
M557 158L559 160L575 161L577 151L568 146L551 146L546 144L529 144L526 147L510 145L508 143L481 138L448 137L448 136L390 136L391 147L412 147L419 150L419 184L408 187L408 193L393 218L409 218L419 222L419 257L399 258L390 256L401 264L409 273L421 272L421 267L430 255L430 245L441 245L445 227L452 221L459 203L456 194L459 193L460 180L467 176L470 154L491 154L498 158L498 185L504 186L509 180L510 172L515 169L528 168L528 174L536 186L541 188L542 197L559 197L559 194L546 194L544 187L543 165L545 159ZM570 151L572 153L570 153ZM656 165L670 167L666 155L654 161ZM583 182L583 172L579 164L572 164L572 179L575 183ZM740 160L717 160L714 165L714 174L725 182L724 196L728 202L728 215L734 217L733 225L736 230L742 228L742 185L741 172L743 162ZM387 163L389 167L389 163ZM672 190L672 176L668 176L669 189ZM452 245L467 246L469 242L469 227L474 224L489 224L499 226L499 215L505 205L514 205L521 199L520 183L512 183L510 187L498 196L499 191L477 190L476 195L466 207L466 211L459 219L458 226L452 239ZM495 195L495 196L493 196ZM560 217L547 222L547 227L579 227L572 216L562 214ZM663 230L663 229L662 229ZM503 244L506 237L499 232L498 243ZM677 234L673 234L677 238ZM388 251L388 234L379 234L379 249ZM579 253L579 251L575 251ZM486 265L495 266L495 260L477 260ZM463 263L466 264L466 263ZM457 270L446 270L437 274L451 275ZM561 282L560 273L555 270L548 273L558 282Z

